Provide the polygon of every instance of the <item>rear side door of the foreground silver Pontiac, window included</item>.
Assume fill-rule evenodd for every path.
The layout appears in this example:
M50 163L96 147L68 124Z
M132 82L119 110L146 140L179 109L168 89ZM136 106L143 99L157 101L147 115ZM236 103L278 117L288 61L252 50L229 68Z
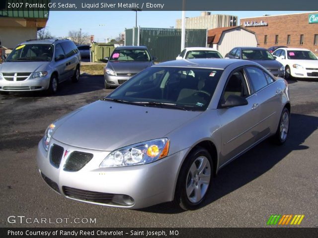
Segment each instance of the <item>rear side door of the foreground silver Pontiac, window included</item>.
M280 117L283 90L277 81L263 69L255 66L245 68L250 85L258 98L260 120L257 140L263 139L276 131L276 122Z

